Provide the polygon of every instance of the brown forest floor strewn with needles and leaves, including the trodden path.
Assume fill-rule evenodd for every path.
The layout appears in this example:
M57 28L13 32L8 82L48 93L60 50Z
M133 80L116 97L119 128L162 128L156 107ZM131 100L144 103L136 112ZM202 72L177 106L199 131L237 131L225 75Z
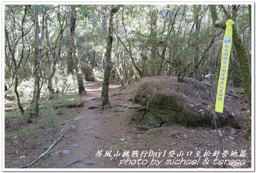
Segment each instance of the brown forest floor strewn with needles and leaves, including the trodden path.
M100 85L98 85L100 84ZM132 91L136 87L137 83L132 82L128 85L126 90L120 91L120 85L113 84L109 86L109 100L113 107L110 109L101 110L101 89L102 81L88 82L86 83L87 94L82 96L84 100L84 107L76 108L58 108L58 116L60 118L59 124L64 124L65 130L63 131L63 137L58 141L52 151L73 150L70 156L44 156L35 164L28 168L62 168L70 162L77 159L81 159L89 154L81 162L74 163L66 168L221 168L221 164L214 164L213 153L215 150L219 150L219 141L217 138L217 132L213 128L202 127L183 127L180 125L173 125L161 128L155 128L149 131L140 130L138 126L146 126L139 121L139 115L141 109L145 110L145 107L134 104L132 105ZM111 96L114 94L122 93L119 95ZM242 103L241 108L246 108L244 97L240 97L237 100ZM125 106L122 106L125 105ZM140 107L140 109L129 108L131 106ZM247 104L248 106L248 104ZM93 108L94 107L94 108ZM95 108L99 107L99 108ZM237 108L236 112L246 113L246 111ZM248 108L247 108L248 109ZM122 110L122 111L120 111ZM74 118L83 116L84 119L78 121L67 121L64 123L67 112L74 115ZM19 125L18 122L16 125ZM76 128L71 128L71 125L75 125ZM96 125L96 126L95 126ZM60 130L63 128L60 126L56 128L53 138L52 134L44 130L43 134L32 142L33 139L27 139L24 141L24 146L18 138L10 139L5 142L5 167L14 168L26 163L31 163L32 159L39 157L56 139L60 136ZM87 128L93 127L89 130ZM21 127L21 126L20 126ZM8 122L5 122L5 131L10 129L20 130L20 127L11 126ZM228 150L228 155L224 159L229 160L246 160L245 164L240 162L229 164L226 162L227 168L250 168L251 167L251 140L245 129L233 129L229 126L219 128L224 150ZM78 144L79 147L74 147L72 144ZM95 147L95 149L93 148ZM94 149L94 150L93 150ZM98 151L102 150L102 155L96 157ZM150 151L154 151L162 154L159 156L149 156ZM245 157L241 157L241 150L246 150ZM111 151L112 157L105 156L106 151ZM113 157L117 151L121 153L119 157ZM128 155L122 157L124 151L129 151ZM138 154L149 152L145 157L142 155L143 160L147 160L146 164L137 164L140 156L132 157L132 151L138 151ZM174 151L174 157L169 157L170 151ZM192 155L187 155L192 151ZM205 151L210 151L209 163L203 164ZM237 151L237 157L232 157L231 152ZM91 152L91 153L90 153ZM165 156L163 153L166 152ZM177 156L182 154L183 156ZM198 164L171 164L173 159L198 160L201 155ZM159 156L159 158L157 158ZM239 157L240 156L240 157ZM152 159L162 160L157 165L150 164ZM135 161L127 161L127 158ZM172 161L168 163L168 159ZM218 158L220 160L220 157ZM121 160L125 160L125 163ZM29 162L30 161L30 162ZM143 163L145 163L144 161ZM189 162L189 161L188 161ZM186 162L186 163L188 163ZM218 161L215 160L215 163ZM130 164L129 163L133 163ZM153 162L154 163L154 162ZM166 164L167 163L167 164Z

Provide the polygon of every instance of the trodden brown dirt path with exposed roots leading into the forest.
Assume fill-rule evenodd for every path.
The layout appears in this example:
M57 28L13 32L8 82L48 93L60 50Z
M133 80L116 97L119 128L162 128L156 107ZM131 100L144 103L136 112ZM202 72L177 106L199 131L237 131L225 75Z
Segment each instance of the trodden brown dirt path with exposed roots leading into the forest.
M99 166L101 168L109 168L109 164L107 163L109 161L108 158L102 156L101 158L94 157L97 151L102 149L102 153L103 155L105 155L105 151L112 150L111 148L113 148L115 145L111 141L118 142L119 139L119 142L122 142L120 140L124 139L123 142L136 144L136 140L138 138L138 134L136 133L139 132L138 129L134 128L134 124L129 124L130 116L134 115L134 112L138 109L128 109L126 106L120 107L121 104L132 106L132 102L129 100L131 100L131 92L135 88L134 84L129 85L129 87L126 88L126 90L120 92L120 87L118 85L110 85L109 100L110 103L113 105L113 108L100 110L100 108L93 107L101 107L102 81L87 83L87 94L83 96L85 107L67 109L67 111L76 113L77 116L83 116L84 119L78 121L69 121L67 125L68 128L63 132L63 139L60 140L60 142L52 149L56 151L71 149L73 150L73 153L70 156L49 157L47 160L44 160L43 162L40 161L39 164L37 164L35 167L63 167L69 162L73 162L77 159L81 159L82 157L88 155L93 146L96 145L96 148L92 152L92 154L85 159L85 161L89 161L90 163L78 162L72 164L71 166L68 166L67 168L97 168ZM113 94L118 93L129 94L111 96ZM122 110L124 112L117 112ZM76 128L70 128L70 125L75 125ZM93 126L95 127L91 128ZM91 129L85 131L86 128ZM72 144L78 144L79 147L73 147Z

